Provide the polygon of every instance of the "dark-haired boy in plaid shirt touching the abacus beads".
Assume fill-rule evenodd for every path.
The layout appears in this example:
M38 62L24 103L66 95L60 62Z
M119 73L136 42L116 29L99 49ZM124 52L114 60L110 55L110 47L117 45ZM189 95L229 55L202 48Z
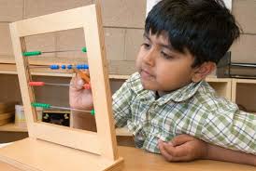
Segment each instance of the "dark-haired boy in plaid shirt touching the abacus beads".
M238 152L256 154L256 116L217 97L204 81L239 33L222 1L159 2L146 20L137 72L113 95L116 126L127 125L136 147L169 161L256 164L254 155ZM71 107L92 108L90 91L81 90L79 78L73 82Z

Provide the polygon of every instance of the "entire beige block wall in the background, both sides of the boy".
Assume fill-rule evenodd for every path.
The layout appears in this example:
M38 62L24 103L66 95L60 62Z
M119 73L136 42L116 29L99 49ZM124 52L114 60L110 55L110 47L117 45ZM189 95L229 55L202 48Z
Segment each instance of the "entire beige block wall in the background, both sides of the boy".
M8 23L65 9L90 5L94 0L0 0L0 58L12 56ZM102 0L109 72L135 72L135 57L142 42L146 0ZM256 0L233 0L233 12L244 33L232 46L233 61L256 62ZM86 17L85 17L86 20ZM84 45L81 30L26 38L28 50L64 50ZM80 53L53 53L48 57L81 58Z

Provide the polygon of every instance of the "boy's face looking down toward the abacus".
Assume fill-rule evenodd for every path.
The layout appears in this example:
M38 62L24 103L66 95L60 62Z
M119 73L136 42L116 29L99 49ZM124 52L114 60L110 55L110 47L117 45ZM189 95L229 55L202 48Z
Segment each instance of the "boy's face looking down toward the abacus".
M164 34L144 34L136 69L145 89L159 92L173 91L192 82L194 58L187 51L182 54L172 48Z

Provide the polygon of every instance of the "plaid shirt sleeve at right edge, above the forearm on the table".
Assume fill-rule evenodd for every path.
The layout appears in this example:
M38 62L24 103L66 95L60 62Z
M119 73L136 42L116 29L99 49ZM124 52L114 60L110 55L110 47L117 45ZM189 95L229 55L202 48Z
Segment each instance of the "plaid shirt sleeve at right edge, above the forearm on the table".
M256 154L256 115L239 111L235 104L209 112L202 133L206 142Z

